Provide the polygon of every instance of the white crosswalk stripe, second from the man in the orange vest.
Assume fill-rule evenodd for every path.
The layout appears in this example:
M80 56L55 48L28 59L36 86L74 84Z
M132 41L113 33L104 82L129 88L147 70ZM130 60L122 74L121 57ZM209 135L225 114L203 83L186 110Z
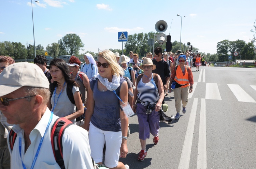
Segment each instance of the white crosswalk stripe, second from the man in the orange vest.
M213 100L221 100L217 83L206 83L205 98Z

